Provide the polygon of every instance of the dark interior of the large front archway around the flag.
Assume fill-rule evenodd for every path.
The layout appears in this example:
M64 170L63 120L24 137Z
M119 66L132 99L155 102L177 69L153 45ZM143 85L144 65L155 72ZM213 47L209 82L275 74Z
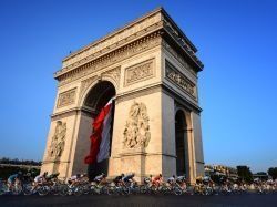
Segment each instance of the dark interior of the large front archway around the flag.
M114 85L109 81L100 81L90 89L86 96L83 101L83 107L91 111L92 120L98 116L101 108L105 106L105 104L115 96L116 91ZM114 122L114 103L112 108L112 122L111 122L111 128L110 128L110 156L111 156L111 148L112 148L112 134L113 134L113 122ZM86 137L89 138L89 137ZM89 146L88 146L89 149ZM88 166L88 174L90 178L95 177L96 175L101 173L105 173L107 175L109 170L109 161L104 159L101 163L98 164L90 164Z

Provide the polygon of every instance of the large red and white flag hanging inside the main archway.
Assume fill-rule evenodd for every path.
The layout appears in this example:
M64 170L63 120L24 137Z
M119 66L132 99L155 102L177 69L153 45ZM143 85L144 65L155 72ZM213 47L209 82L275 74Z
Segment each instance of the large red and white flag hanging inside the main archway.
M107 102L92 123L91 148L90 154L84 158L85 164L96 164L110 156L113 100L114 97Z

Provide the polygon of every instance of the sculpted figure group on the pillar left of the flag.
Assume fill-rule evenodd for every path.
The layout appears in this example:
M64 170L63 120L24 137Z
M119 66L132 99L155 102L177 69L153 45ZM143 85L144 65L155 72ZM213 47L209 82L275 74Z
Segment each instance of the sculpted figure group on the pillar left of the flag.
M65 134L66 134L66 123L58 121L49 149L50 158L55 159L62 156L62 152L64 149L64 144L65 144Z

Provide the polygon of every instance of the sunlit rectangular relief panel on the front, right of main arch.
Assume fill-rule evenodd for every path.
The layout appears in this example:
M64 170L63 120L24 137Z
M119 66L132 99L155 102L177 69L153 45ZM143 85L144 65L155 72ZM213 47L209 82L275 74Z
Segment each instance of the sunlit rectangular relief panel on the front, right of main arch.
M154 76L154 60L148 60L125 70L125 85Z

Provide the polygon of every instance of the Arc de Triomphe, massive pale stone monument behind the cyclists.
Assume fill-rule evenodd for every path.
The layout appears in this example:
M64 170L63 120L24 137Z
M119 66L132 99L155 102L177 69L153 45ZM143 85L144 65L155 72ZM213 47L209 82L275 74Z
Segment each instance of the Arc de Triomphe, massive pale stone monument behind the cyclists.
M42 172L85 173L93 118L115 95L110 177L204 174L197 50L163 8L71 53L54 74L57 100Z

